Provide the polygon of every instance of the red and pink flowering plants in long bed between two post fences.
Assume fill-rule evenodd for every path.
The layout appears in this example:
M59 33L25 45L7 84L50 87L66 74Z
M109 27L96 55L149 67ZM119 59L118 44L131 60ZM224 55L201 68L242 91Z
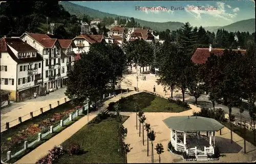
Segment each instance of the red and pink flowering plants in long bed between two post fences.
M17 128L15 129L15 126L12 131L9 132L9 129L1 133L2 141L1 141L1 153L2 158L6 158L7 151L12 151L12 153L16 153L17 151L23 149L24 142L28 141L28 143L31 143L35 141L38 137L38 133L45 133L49 131L49 127L54 124L59 124L59 120L68 117L70 113L74 112L81 106L76 106L75 108L68 108L68 109L61 109L56 108L51 111L49 110L48 117L44 116L44 114L39 115L35 117L34 120L28 120L21 124L16 125ZM46 115L48 114L46 112ZM55 112L55 113L53 113ZM44 119L40 119L40 117L43 117ZM49 118L50 117L50 118ZM29 124L30 123L30 124ZM27 126L26 126L27 124ZM9 132L9 133L7 133ZM5 135L6 134L6 135Z

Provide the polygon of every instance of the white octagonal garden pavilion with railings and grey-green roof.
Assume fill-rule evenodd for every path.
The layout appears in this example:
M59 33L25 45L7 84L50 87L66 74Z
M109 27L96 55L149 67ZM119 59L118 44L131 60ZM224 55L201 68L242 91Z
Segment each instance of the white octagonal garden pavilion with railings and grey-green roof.
M215 131L224 127L215 119L198 116L174 116L163 122L170 128L175 150L196 156L214 154Z

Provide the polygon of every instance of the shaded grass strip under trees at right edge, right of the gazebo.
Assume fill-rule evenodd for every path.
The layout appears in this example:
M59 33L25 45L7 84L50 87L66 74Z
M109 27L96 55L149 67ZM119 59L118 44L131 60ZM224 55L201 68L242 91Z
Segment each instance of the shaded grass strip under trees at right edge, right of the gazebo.
M229 122L224 122L222 124L224 126L226 126L228 129L230 129ZM242 132L241 132L240 126L232 124L232 131L244 139L244 128L243 127L242 127ZM254 142L254 139L253 139L253 131L252 130L246 129L245 140L248 141L249 143L251 143L252 145L256 146L256 143Z

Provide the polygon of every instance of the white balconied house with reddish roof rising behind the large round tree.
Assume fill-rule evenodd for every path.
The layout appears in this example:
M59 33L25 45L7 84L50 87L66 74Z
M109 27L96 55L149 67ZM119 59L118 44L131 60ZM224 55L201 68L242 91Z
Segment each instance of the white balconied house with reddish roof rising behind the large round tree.
M90 45L104 41L103 35L79 35L73 39L76 48L73 48L75 53L88 52Z

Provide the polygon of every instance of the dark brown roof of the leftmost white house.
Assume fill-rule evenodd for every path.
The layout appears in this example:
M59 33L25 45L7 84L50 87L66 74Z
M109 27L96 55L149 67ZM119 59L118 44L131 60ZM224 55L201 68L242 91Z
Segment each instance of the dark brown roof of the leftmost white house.
M35 48L33 48L28 43L25 43L23 40L19 38L4 38L6 44L11 46L13 49L15 49L18 52L32 52L37 51Z

